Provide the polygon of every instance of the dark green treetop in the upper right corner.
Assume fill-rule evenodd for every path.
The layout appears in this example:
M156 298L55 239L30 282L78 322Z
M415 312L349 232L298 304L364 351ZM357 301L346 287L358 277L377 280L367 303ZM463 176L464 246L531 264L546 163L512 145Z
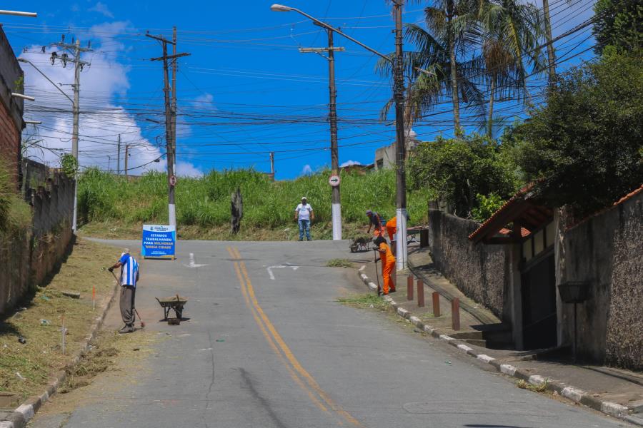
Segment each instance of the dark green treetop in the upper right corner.
M597 54L605 46L620 51L635 51L643 47L643 4L632 0L598 0L594 5L596 22L594 38Z

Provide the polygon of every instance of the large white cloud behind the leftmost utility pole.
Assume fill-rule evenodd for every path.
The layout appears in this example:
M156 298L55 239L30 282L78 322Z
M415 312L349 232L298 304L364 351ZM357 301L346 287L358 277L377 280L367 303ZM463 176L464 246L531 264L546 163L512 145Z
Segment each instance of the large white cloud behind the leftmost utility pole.
M92 27L96 36L104 41L108 35L118 34L126 28L126 22L114 22ZM110 47L114 46L113 44ZM121 48L124 46L121 45ZM124 168L125 146L130 146L130 173L139 175L147 170L166 170L166 159L161 158L160 148L149 141L144 132L123 106L116 105L110 100L115 94L126 94L129 89L127 73L129 69L110 57L95 51L91 55L91 66L85 66L81 73L79 122L79 163L81 166L96 166L106 170L116 169L117 141L121 136L121 170ZM59 63L52 66L49 57L39 52L39 46L33 46L21 57L29 59L55 83L63 83L59 88L69 98L73 91L69 83L74 81L73 64L68 63L63 68ZM72 116L71 102L54 86L38 73L31 65L21 64L25 72L25 92L36 97L36 102L25 104L27 120L42 121L37 128L41 143L51 150L34 150L29 153L36 160L58 163L61 153L71 152ZM56 109L57 111L51 111ZM156 126L154 131L162 133L162 127ZM29 127L25 133L33 133ZM159 162L155 159L161 158ZM178 175L202 175L199 168L184 161L177 162Z

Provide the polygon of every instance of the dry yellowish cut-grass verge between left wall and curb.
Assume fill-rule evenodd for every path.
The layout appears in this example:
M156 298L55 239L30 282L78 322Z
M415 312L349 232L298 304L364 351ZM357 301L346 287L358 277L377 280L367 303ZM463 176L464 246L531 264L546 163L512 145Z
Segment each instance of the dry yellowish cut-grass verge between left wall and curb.
M49 284L38 287L19 304L19 310L0 320L0 391L16 392L23 398L40 394L51 375L79 352L114 290L114 278L101 272L101 267L113 263L118 255L119 250L108 245L78 240ZM80 293L80 298L63 292Z

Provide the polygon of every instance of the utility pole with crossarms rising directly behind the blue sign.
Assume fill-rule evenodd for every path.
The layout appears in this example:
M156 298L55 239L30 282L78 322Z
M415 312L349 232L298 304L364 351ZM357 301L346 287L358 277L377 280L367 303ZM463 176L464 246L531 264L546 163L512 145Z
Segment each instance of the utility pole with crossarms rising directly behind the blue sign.
M172 41L167 40L162 36L152 36L151 34L146 34L146 36L160 41L163 46L163 56L159 58L151 58L151 61L163 61L168 218L169 225L176 226L176 207L174 205L174 185L176 184L176 178L174 177L174 164L176 163L176 58L188 56L189 54L176 54L176 27L174 27L173 30ZM167 54L167 44L171 44L173 46L172 55ZM169 83L168 60L172 61L171 88Z

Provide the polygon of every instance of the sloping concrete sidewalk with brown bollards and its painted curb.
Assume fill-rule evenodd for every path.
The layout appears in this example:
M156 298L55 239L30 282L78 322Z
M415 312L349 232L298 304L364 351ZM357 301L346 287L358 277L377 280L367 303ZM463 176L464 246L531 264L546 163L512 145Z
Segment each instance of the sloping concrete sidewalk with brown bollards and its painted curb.
M510 332L507 327L492 312L462 295L462 292L434 270L427 249L409 248L409 266L416 278L414 300L407 300L407 275L399 275L397 292L384 297L395 307L398 315L433 337L487 362L499 372L531 384L545 383L547 389L554 394L643 426L643 373L612 367L574 365L553 357L549 360L537 360L534 352L498 346L509 345ZM371 282L369 287L373 288L373 283L377 284L372 263L366 265L359 274L364 283L369 285ZM417 305L417 278L424 282L424 307ZM440 317L433 316L434 291L440 293ZM458 331L452 330L451 300L454 297L459 297L460 300L461 328ZM483 338L487 335L482 333L489 329L495 330L492 332L495 340L491 343L488 338ZM501 349L490 349L485 345Z

